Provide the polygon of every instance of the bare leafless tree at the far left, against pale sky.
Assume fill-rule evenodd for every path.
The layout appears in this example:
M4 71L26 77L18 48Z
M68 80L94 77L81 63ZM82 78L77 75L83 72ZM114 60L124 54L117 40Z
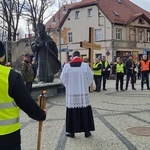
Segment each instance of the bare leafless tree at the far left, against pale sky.
M15 41L18 23L25 0L2 0L0 1L0 18L5 22L0 26L7 32L8 41Z

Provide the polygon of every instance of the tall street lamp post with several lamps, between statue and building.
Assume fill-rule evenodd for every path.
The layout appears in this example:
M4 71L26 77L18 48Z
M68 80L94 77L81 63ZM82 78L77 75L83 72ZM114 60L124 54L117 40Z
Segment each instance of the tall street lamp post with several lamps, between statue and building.
M59 4L59 10L58 10L58 27L57 27L57 32L58 32L58 49L59 49L59 60L61 62L61 24L60 24L60 2L58 1L58 4ZM63 11L62 11L62 14L66 14L66 7L64 6L63 7ZM56 20L55 20L55 17L53 16L52 18L52 25L56 25Z

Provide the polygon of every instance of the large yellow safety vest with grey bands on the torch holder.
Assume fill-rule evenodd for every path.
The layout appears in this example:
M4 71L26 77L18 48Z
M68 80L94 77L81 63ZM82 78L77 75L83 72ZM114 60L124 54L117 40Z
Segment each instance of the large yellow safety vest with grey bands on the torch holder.
M0 135L20 129L19 108L8 94L10 70L10 67L0 65Z

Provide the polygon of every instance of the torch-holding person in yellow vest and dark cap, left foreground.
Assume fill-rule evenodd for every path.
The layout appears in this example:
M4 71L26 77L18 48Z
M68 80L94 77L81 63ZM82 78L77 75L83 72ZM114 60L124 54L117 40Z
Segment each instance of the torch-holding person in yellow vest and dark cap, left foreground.
M29 95L21 75L1 65L4 59L0 41L0 150L21 150L19 108L38 121L45 120L46 113Z

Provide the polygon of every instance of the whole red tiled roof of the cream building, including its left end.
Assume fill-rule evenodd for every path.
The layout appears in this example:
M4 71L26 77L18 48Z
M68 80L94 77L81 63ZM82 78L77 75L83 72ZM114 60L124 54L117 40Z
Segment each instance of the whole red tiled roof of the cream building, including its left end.
M58 25L62 25L70 11L86 6L98 5L99 9L112 23L116 24L128 24L133 21L137 16L143 14L147 21L150 23L150 12L142 9L130 0L82 0L78 3L72 3L65 5L68 10L66 15L63 15L63 6L60 8L60 22L59 11L54 15L56 25L52 25L52 18L46 23L46 27L56 28Z

